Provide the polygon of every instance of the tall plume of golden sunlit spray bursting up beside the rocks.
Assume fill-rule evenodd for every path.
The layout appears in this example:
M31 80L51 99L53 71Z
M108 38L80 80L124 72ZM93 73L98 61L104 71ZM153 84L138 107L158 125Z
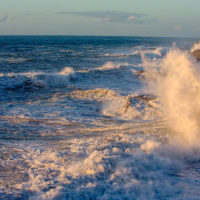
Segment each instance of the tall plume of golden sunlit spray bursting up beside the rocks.
M187 52L171 49L163 59L143 56L149 88L159 97L171 130L170 142L199 146L200 74Z

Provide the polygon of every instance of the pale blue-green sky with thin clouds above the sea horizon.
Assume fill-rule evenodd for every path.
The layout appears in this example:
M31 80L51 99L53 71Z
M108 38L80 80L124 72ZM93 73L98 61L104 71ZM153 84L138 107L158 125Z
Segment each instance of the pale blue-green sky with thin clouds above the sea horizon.
M0 0L0 35L200 36L200 0Z

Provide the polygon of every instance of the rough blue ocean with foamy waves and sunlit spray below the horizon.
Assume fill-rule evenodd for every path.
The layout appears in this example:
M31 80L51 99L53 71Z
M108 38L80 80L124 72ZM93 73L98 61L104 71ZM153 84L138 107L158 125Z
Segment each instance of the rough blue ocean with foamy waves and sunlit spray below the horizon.
M196 41L0 36L0 199L200 199Z

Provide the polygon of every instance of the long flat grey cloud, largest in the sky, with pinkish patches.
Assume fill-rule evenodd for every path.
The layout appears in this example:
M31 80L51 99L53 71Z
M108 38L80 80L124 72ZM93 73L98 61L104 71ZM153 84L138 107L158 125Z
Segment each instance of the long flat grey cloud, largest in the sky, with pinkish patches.
M91 11L91 12L57 12L59 15L78 15L90 18L96 18L104 22L118 23L150 23L155 20L146 14L138 14L122 11Z

